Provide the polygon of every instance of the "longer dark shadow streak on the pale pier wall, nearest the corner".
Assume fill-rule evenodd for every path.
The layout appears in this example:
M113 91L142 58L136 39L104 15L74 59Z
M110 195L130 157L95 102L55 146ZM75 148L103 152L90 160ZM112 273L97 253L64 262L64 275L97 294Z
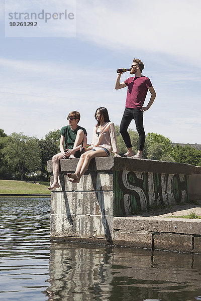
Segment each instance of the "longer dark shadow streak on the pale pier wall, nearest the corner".
M92 159L91 162L90 162L90 170L94 171L94 172L90 172L90 174L91 174L93 190L95 192L96 199L98 201L100 211L102 213L101 221L102 221L102 224L104 226L105 237L106 237L107 242L113 243L112 235L111 235L111 232L110 232L110 227L109 227L107 217L106 217L104 195L103 195L103 202L102 202L102 198L101 199L98 198L98 193L101 193L101 191L97 191L97 189L96 189L97 168L96 168L95 159Z

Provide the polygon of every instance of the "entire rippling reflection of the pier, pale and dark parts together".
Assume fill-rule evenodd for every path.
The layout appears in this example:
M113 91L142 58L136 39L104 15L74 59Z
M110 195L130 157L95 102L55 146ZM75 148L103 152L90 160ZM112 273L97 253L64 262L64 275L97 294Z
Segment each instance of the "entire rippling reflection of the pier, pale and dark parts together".
M62 301L188 299L186 290L191 290L189 299L201 294L199 255L51 243L49 269L48 290Z

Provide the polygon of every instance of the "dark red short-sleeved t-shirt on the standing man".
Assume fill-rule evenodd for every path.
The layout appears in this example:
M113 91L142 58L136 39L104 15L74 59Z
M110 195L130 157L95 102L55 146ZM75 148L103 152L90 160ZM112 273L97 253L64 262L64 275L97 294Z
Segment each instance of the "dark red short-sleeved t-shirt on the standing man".
M152 87L151 81L148 77L142 75L141 77L129 77L125 80L128 86L126 107L138 109L144 104L149 87Z

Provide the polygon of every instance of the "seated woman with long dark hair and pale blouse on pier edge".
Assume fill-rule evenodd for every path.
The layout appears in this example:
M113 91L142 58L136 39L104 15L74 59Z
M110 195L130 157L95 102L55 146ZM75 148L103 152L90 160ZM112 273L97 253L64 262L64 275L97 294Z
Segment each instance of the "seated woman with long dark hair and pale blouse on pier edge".
M115 134L115 125L109 119L107 108L100 107L95 112L97 124L93 128L92 144L81 155L74 174L67 174L68 181L79 183L81 176L87 170L91 159L95 157L109 157L111 144L115 157L120 157L117 152L117 139Z

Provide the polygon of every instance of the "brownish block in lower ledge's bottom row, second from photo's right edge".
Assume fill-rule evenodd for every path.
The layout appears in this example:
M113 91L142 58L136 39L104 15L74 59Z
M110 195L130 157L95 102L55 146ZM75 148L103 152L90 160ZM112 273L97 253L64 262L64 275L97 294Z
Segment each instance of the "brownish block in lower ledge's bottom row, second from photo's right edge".
M191 252L192 236L171 233L154 234L154 249Z

